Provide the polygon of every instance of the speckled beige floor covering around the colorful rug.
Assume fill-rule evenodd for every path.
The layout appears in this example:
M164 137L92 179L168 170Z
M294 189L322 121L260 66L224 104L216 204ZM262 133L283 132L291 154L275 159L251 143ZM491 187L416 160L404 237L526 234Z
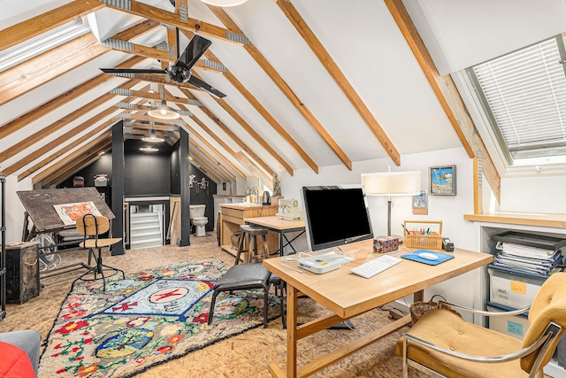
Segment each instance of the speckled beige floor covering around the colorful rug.
M221 251L216 235L191 237L191 246L165 246L143 250L126 251L125 255L106 257L104 264L117 266L128 272L136 272L149 267L164 266L169 263L183 262L194 258L218 258L228 265L233 265L233 256ZM66 266L75 261L85 260L84 251L60 254L59 266ZM7 305L6 319L0 321L0 332L34 328L45 338L59 308L69 292L73 277L80 271L74 271L66 277L59 275L42 279L45 287L39 297L34 297L23 305ZM66 280L63 280L65 279ZM327 310L317 305L310 298L299 299L299 321L312 319ZM309 314L306 317L304 314ZM371 332L391 320L388 312L376 309L352 320L355 330L325 330L316 336L307 337L299 342L299 360L306 363L317 356L331 351L343 343L354 340L360 334ZM316 377L400 377L402 360L394 355L394 343L400 333L386 337L354 355L314 375ZM256 328L239 336L213 344L200 351L156 366L139 377L268 377L268 363L275 361L285 366L286 331L281 328L281 320L273 320L268 328ZM413 372L411 376L423 376ZM57 374L53 374L56 377ZM43 378L43 377L40 377Z

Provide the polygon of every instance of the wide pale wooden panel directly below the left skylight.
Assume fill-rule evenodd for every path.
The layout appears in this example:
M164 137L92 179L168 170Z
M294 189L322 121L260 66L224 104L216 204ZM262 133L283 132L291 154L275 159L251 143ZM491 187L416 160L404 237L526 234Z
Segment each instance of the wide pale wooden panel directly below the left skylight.
M102 47L92 33L88 33L7 69L0 73L0 105L57 79L109 50Z

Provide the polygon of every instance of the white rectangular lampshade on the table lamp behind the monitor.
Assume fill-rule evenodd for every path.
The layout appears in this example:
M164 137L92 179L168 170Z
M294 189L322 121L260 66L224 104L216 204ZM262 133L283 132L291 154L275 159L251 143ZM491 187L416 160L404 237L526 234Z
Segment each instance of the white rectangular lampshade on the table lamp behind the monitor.
M421 192L420 171L362 174L367 196L416 196Z

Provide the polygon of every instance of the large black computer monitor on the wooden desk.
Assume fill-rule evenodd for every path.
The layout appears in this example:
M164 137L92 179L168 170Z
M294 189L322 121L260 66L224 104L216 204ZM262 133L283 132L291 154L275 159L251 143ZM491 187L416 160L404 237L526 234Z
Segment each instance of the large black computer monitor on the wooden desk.
M302 187L302 200L311 251L373 238L362 185Z

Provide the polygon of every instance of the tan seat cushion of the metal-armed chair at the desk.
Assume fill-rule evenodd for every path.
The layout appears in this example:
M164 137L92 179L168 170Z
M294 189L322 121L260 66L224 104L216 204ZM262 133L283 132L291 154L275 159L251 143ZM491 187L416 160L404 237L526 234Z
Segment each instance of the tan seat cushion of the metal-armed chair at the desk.
M492 329L477 326L446 309L434 309L426 312L407 333L441 348L476 356L500 356L521 349L520 340ZM395 353L401 357L403 339L404 336L397 342L395 348ZM455 359L440 352L424 351L414 344L409 345L408 352L409 359L450 377L485 378L498 376L517 378L528 376L521 369L518 359L495 365L478 364L464 359Z

